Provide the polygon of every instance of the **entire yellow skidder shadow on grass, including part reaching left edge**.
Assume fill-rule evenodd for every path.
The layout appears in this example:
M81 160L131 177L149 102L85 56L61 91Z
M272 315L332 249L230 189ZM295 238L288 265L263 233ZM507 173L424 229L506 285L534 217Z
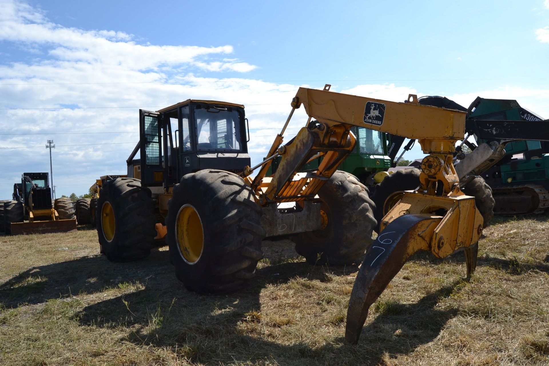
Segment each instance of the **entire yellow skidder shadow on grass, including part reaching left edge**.
M285 345L269 335L269 325L262 324L258 316L261 290L296 277L328 282L332 274L343 276L356 271L354 267L329 268L328 275L321 266L312 267L291 261L292 258L284 262L292 255L267 248L266 258L271 265L260 269L244 289L219 296L186 291L173 275L165 250L153 251L147 260L131 263L110 263L99 255L82 257L30 268L6 281L0 285L0 302L5 307L17 307L20 303L91 295L86 297L91 305L74 315L77 324L125 329L121 341L170 348L192 362L216 364L265 360L296 365L377 364L386 354L411 353L433 341L457 314L457 309L442 311L436 305L441 298L459 291L461 280L417 303L385 304L373 320L368 319L358 345L344 344L343 323L333 327L333 337L330 335L321 346L308 341L306 334L302 334L301 341ZM125 286L138 283L131 288L137 289L133 292L102 300L105 290L119 288L123 292ZM302 309L306 311L306 303ZM299 321L277 326L288 326L295 334L300 333Z

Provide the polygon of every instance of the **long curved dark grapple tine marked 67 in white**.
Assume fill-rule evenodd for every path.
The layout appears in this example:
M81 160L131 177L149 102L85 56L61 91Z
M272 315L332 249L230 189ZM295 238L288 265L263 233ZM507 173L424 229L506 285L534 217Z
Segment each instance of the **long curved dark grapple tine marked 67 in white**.
M422 221L430 221L423 222ZM440 221L428 215L405 215L395 219L379 234L366 252L352 288L345 341L357 343L368 309L382 294L406 260L419 250L428 250L423 233ZM421 226L421 230L416 230Z

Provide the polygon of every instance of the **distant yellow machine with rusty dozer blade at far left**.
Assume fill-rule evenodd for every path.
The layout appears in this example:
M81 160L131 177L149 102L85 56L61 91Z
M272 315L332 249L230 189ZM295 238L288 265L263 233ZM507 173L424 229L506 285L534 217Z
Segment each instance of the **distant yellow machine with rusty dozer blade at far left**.
M48 173L23 173L13 200L0 201L0 222L6 234L71 232L76 230L70 198L52 200Z

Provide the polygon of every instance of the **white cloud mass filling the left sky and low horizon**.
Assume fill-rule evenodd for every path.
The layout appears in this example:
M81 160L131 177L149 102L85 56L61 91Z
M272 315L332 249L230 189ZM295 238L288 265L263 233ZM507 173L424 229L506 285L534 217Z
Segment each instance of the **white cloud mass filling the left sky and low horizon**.
M298 88L235 77L234 73L249 72L257 66L239 60L230 45L142 44L125 32L54 24L40 10L14 1L0 0L0 39L4 46L17 47L30 56L30 61L25 58L8 64L3 60L10 57L9 47L2 50L0 109L135 107L0 110L3 134L50 133L0 135L0 147L38 147L0 149L0 199L9 198L13 183L20 181L23 171L49 171L49 155L44 146L47 139L53 139L57 145L53 150L53 168L58 195L83 194L97 177L125 173L125 160L138 140L138 134L133 133L138 131L138 108L158 110L188 98L244 104L251 129L249 151L255 164L280 131ZM408 94L423 95L413 87L394 84L359 85L342 92L396 102L404 101ZM509 87L449 98L468 106L477 95L518 99L526 108L549 116L545 103L549 91ZM288 139L305 122L304 109L300 108L288 127ZM128 144L113 144L123 142ZM105 145L87 145L99 143Z

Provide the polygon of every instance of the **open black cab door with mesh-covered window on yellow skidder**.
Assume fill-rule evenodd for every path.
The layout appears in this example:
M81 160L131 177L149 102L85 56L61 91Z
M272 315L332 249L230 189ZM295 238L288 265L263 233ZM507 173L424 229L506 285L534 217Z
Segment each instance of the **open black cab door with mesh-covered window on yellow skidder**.
M141 184L162 185L162 128L160 114L139 109L139 151L141 153Z

